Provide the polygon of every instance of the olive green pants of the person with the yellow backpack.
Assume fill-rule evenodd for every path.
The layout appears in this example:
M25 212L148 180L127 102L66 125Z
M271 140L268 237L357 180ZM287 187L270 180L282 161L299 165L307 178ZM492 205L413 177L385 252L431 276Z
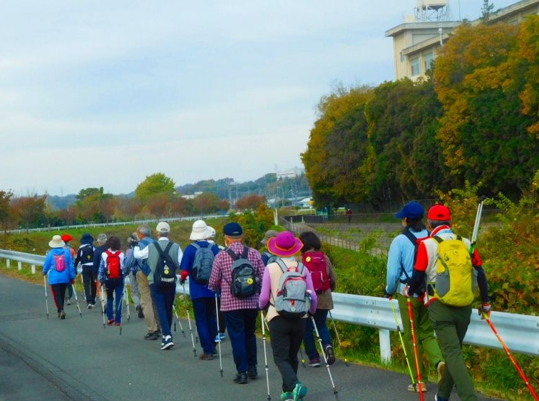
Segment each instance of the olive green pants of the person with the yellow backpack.
M462 355L462 342L470 324L471 306L447 306L436 300L428 306L428 316L446 360L446 371L438 386L438 396L448 399L455 385L461 401L477 401Z

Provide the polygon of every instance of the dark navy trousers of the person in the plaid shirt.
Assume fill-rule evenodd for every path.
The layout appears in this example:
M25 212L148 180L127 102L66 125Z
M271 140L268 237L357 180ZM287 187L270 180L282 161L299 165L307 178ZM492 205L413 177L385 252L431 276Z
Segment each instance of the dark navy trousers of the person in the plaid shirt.
M247 372L249 366L257 365L257 337L255 326L258 311L239 309L222 313L227 322L228 336L232 345L232 355L238 373Z

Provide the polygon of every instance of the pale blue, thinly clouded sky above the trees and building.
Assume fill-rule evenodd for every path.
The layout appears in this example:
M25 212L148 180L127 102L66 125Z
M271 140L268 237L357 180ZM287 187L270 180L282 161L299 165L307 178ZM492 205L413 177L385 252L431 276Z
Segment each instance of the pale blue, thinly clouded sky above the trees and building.
M448 3L453 20L481 16L483 0ZM158 172L182 185L302 168L322 97L394 80L385 31L417 4L4 1L0 190L127 194Z

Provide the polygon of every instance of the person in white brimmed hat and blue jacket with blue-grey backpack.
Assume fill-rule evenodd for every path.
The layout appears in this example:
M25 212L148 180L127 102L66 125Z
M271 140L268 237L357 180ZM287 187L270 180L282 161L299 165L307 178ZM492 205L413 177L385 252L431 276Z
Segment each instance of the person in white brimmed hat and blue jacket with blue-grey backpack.
M180 264L180 283L184 285L185 279L189 277L189 295L193 302L195 323L200 345L202 345L202 354L198 356L201 360L212 360L213 355L217 353L214 341L215 336L218 335L215 293L207 288L207 281L219 249L215 244L207 241L211 234L212 232L203 220L195 221L189 236L193 244L185 248ZM204 256L204 252L207 252L207 256Z

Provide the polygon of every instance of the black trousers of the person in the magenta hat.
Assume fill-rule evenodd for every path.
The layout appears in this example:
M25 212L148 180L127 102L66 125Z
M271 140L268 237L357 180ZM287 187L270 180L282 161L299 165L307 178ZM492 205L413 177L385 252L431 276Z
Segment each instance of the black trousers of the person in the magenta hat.
M297 352L302 345L306 322L307 319L304 318L286 319L277 316L267 323L270 328L273 360L281 373L283 392L292 392L299 382Z

